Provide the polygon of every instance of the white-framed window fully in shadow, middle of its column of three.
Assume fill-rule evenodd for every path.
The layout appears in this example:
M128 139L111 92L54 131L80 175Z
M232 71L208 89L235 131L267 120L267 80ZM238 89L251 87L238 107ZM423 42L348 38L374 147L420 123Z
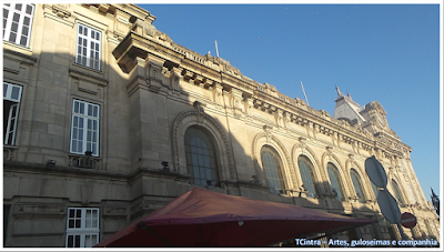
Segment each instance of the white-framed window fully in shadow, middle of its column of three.
M73 100L70 152L99 155L100 107L85 101Z

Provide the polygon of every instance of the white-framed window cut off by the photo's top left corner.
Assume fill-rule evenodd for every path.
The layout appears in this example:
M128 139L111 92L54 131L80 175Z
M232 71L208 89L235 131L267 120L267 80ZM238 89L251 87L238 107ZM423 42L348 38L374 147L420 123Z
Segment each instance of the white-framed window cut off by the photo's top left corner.
M3 40L29 48L34 6L3 3Z

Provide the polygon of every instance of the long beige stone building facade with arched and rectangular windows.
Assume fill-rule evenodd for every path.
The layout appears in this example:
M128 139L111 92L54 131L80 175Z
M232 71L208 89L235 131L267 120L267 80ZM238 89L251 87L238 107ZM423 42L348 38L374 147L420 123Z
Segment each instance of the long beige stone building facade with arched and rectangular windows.
M91 246L193 187L379 221L339 239L400 239L372 155L418 220L404 232L438 239L379 102L337 88L331 117L154 20L133 4L3 4L4 246Z

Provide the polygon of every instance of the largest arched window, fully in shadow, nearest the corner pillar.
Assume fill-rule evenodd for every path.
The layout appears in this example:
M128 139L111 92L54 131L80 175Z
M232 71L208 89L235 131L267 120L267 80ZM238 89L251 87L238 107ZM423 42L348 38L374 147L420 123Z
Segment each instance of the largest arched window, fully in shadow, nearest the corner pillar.
M215 149L211 135L200 127L185 131L186 169L191 184L219 187Z

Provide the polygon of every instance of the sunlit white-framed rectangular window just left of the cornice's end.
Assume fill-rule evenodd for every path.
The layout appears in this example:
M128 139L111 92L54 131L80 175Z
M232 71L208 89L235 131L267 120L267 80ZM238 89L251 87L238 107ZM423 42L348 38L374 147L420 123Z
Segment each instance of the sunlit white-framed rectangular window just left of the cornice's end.
M100 71L101 41L100 31L79 23L75 63Z

